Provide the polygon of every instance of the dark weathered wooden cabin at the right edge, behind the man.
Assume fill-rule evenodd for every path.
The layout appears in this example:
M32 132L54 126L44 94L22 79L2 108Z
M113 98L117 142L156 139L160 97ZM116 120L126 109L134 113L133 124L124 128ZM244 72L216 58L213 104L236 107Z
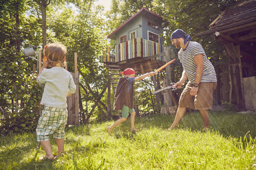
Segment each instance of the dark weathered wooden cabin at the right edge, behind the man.
M209 27L195 36L213 34L226 49L229 63L219 75L220 100L237 110L256 110L256 1L229 7Z

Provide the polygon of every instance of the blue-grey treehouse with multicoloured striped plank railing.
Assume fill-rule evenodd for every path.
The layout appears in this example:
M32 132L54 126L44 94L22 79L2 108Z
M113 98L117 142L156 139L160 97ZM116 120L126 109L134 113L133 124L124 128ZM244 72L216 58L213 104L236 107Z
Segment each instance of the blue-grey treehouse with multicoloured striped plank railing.
M137 73L153 71L165 63L162 16L141 8L107 38L116 40L115 56L105 58L121 70L133 68Z

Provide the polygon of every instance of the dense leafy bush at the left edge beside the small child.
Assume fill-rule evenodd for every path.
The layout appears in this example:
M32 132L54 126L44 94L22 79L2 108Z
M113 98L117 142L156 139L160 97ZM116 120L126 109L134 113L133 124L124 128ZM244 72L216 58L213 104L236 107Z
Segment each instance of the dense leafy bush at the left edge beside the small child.
M34 61L13 51L0 51L0 106L5 112L0 122L2 135L32 132L39 119L42 88L32 73Z

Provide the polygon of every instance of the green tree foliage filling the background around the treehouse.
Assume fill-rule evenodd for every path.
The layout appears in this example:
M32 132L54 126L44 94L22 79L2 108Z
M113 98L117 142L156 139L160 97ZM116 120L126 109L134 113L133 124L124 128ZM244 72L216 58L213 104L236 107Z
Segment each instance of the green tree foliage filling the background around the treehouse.
M47 43L63 43L67 46L68 71L71 72L74 71L76 52L81 122L92 117L105 119L108 71L99 61L107 44L112 47L111 53L115 44L113 40L107 40L107 35L145 7L168 21L163 34L165 45L171 45L171 32L181 28L202 44L216 66L226 60L222 45L211 36L195 37L195 34L209 29L209 24L226 6L237 1L112 0L111 10L104 16L103 7L96 6L95 0L0 0L0 133L33 131L36 127L43 89L36 83L33 73L36 60L23 54L23 49L30 44L37 50L45 40ZM43 3L46 36L42 29ZM178 81L180 65L173 65L171 72L171 81ZM138 82L136 86L136 104L143 112L153 113L156 101L150 95L152 87L145 82Z

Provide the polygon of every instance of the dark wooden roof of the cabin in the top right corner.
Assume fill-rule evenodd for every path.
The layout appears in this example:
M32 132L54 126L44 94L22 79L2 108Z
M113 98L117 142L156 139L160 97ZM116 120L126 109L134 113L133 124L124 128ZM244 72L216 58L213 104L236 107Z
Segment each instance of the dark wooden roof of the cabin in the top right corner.
M225 34L235 34L256 27L256 0L237 3L226 9L209 25L210 29L206 32L195 34L202 36L214 32ZM256 40L256 37L255 37Z

